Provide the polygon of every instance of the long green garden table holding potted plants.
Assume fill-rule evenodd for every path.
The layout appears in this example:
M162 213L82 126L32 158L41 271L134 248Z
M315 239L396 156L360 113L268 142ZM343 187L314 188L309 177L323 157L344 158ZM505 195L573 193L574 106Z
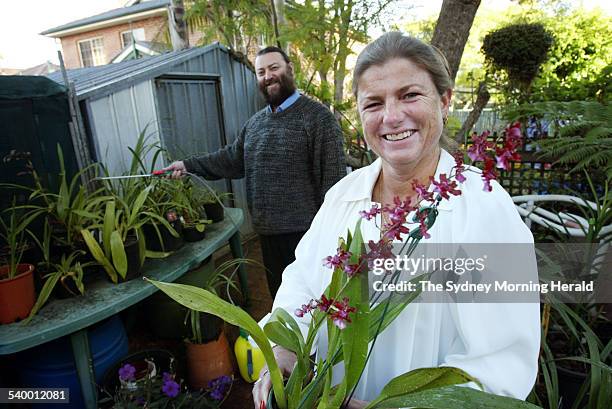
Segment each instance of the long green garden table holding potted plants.
M242 258L239 228L243 222L244 214L241 209L226 208L222 222L207 226L204 240L185 243L168 258L146 260L142 269L143 276L172 282L197 267L227 242L232 255ZM239 279L244 298L248 300L244 266L239 269ZM88 327L142 301L157 291L157 288L140 279L121 284L98 280L88 285L85 291L85 295L81 297L48 303L28 325L1 325L0 355L23 351L69 335L83 399L88 409L95 409L96 383L87 338Z

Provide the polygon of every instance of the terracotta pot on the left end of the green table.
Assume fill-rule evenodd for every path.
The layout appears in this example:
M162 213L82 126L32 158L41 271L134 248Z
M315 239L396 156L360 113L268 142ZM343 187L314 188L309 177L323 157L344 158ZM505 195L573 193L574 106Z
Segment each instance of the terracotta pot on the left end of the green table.
M18 264L17 275L8 277L9 266L0 267L0 324L26 318L34 302L34 266Z

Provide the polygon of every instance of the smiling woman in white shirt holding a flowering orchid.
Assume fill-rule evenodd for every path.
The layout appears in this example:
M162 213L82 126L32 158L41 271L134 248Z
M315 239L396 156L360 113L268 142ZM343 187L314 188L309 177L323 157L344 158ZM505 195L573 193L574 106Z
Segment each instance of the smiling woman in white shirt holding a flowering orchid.
M452 90L446 60L434 47L401 33L387 33L359 55L353 92L369 147L379 156L372 165L338 182L296 249L296 261L283 273L273 309L295 311L317 298L331 273L321 260L336 252L373 202L417 197L413 180L429 185L429 178L450 174L453 157L443 128ZM512 200L492 182L484 192L480 175L467 172L462 194L439 206L429 230L437 243L533 243ZM380 225L380 221L377 223ZM376 240L374 223L362 224L364 240ZM308 315L300 324L307 328ZM320 336L318 353L326 350ZM355 398L360 408L374 399L393 377L412 369L455 366L479 379L488 392L524 399L531 390L540 345L537 304L412 304L378 338ZM274 348L281 369L290 372L292 353ZM264 368L253 389L255 407L265 400L270 377Z

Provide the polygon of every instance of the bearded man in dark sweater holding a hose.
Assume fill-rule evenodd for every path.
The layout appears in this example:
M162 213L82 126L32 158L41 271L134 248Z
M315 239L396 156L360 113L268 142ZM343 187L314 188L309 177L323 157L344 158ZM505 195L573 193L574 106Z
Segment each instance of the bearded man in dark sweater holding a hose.
M325 106L300 95L293 64L278 47L255 59L257 84L268 106L253 115L232 143L217 152L172 163L206 179L246 177L247 201L259 234L272 298L295 247L327 190L346 174L342 132Z

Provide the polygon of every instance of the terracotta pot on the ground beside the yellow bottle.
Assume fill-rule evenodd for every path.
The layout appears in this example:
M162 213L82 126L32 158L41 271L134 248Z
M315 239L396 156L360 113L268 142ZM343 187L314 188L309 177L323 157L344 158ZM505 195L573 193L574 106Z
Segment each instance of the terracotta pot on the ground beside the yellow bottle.
M187 348L187 370L189 386L193 389L206 388L208 382L220 376L234 373L230 347L221 332L219 339L206 344L185 342Z

